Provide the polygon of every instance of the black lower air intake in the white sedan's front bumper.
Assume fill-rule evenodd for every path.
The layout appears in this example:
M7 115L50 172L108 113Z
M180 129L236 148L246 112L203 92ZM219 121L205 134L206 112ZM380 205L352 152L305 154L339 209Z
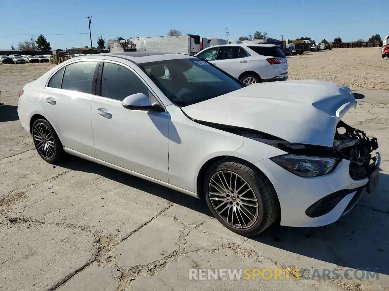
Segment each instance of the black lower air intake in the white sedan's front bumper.
M331 193L309 206L307 210L305 210L305 214L312 218L327 214L333 210L344 197L356 190L357 189L345 189Z

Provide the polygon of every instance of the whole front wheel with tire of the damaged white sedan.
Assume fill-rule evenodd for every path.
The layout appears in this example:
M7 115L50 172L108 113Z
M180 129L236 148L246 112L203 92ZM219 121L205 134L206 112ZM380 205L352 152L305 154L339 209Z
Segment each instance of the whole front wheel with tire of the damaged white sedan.
M203 191L214 217L243 236L268 228L278 217L278 200L267 180L251 166L225 159L205 175Z

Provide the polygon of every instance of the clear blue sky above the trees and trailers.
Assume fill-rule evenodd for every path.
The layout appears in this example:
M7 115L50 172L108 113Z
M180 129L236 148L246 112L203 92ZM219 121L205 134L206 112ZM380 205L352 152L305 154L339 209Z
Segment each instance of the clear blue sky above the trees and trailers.
M36 0L23 5L4 1L0 7L0 49L17 47L20 41L43 34L53 49L93 46L100 33L143 37L166 35L170 29L182 33L237 39L255 31L270 37L294 39L309 36L321 41L335 37L343 42L380 34L389 35L385 24L388 0ZM244 3L240 7L239 3ZM15 9L19 7L20 9ZM6 13L4 13L6 12Z

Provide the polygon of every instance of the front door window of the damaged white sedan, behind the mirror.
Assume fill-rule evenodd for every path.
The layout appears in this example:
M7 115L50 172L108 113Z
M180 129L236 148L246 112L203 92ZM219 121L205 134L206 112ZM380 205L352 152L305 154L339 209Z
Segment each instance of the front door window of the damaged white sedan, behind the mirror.
M165 74L165 69L163 68ZM149 95L149 89L130 69L110 62L103 66L101 80L102 97L123 101L124 98L136 93Z

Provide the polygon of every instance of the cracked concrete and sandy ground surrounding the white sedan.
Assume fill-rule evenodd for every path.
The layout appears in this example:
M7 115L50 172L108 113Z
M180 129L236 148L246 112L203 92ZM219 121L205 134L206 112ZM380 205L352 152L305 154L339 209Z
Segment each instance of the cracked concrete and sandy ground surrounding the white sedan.
M378 138L383 162L375 193L331 225L275 225L250 238L222 227L193 197L78 158L45 163L16 109L23 84L51 66L0 66L0 291L388 290L389 92L366 90L387 85L364 77L374 74L387 84L389 60L365 49L370 63L363 50L291 57L289 69L291 78L359 88L357 109L343 120ZM350 66L360 72L351 74ZM306 277L325 268L338 269L341 277L190 281L189 268L309 269ZM378 276L367 279L356 268Z

